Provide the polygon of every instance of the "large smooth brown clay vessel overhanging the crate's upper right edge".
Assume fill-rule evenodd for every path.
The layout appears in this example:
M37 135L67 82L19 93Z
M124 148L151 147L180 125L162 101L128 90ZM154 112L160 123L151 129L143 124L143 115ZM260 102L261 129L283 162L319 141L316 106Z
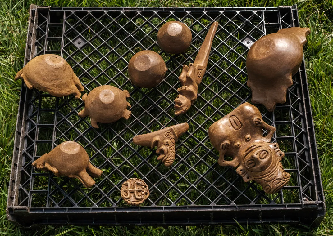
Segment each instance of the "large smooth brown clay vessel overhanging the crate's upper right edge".
M252 90L252 102L263 104L268 111L276 103L285 103L292 76L303 60L303 46L309 28L293 27L266 35L255 42L246 58L247 86Z

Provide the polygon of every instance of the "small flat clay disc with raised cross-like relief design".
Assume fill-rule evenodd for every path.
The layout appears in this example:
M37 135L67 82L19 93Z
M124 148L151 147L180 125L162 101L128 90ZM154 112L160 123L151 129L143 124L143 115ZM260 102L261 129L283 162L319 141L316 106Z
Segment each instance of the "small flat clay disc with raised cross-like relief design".
M149 197L148 185L139 178L130 178L122 184L120 195L132 206L139 206Z

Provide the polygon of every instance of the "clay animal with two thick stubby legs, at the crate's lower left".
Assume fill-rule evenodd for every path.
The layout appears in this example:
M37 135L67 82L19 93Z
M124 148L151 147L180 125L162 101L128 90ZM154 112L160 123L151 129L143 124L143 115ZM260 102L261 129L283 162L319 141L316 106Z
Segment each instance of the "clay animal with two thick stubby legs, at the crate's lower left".
M51 171L57 177L78 178L86 188L95 184L95 180L89 175L100 177L103 173L90 163L86 150L73 141L59 144L51 152L34 161L32 166L43 171Z

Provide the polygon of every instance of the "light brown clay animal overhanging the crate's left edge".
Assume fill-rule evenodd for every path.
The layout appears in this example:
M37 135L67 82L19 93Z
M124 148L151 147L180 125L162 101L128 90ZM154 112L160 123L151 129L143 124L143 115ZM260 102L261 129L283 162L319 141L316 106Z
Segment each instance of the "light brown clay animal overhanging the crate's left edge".
M23 79L29 89L37 88L56 97L75 95L84 90L72 67L62 57L45 54L33 58L17 72L15 81Z

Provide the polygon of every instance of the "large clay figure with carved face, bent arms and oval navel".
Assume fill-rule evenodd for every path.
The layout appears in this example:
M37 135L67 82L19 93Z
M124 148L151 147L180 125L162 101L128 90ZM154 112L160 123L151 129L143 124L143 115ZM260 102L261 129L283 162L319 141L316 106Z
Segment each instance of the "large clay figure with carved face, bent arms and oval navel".
M264 137L262 127L268 133ZM275 193L289 181L283 170L284 153L277 143L270 143L275 128L266 124L259 110L243 103L213 123L208 129L210 142L220 155L218 165L237 167L236 172L245 182L254 180L266 193ZM232 157L232 161L224 160Z

